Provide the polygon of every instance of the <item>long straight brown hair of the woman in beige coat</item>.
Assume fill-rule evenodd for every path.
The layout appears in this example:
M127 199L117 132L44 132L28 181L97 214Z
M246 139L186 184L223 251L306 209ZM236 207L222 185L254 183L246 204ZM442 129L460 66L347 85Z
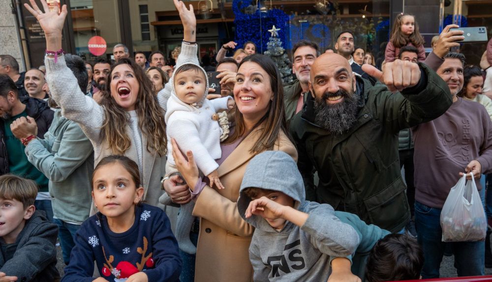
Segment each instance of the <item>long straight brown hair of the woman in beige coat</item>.
M241 113L238 107L235 106L233 112L236 119L236 127L234 132L224 142L226 144L233 143L234 141L247 136L260 124L263 124L263 130L258 138L258 141L249 150L251 153L255 154L272 149L278 140L280 131L283 131L287 136L289 136L289 133L287 131L287 121L285 118L285 108L283 104L283 86L280 72L278 71L274 61L268 56L255 54L246 56L241 64L239 64L239 67L241 67L244 62L257 63L267 72L270 77L270 86L274 94L274 99L270 102L267 113L265 113L265 115L262 116L261 119L248 132L246 132L246 124L243 113Z

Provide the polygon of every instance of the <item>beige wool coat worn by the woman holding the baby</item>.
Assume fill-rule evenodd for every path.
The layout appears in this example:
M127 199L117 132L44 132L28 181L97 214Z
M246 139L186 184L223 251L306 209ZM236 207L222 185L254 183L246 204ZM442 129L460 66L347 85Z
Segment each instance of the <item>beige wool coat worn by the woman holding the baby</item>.
M260 130L250 133L219 166L225 189L205 186L196 200L193 215L200 217L200 232L195 282L253 281L248 249L254 227L241 218L236 202L246 166L255 156L249 149ZM283 132L274 150L284 151L297 161L297 150Z

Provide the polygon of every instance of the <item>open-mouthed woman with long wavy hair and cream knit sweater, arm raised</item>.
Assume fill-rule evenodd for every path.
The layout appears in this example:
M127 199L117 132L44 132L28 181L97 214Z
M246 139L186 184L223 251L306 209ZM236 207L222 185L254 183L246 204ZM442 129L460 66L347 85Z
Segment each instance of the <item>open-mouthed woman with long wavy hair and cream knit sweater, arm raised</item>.
M155 98L153 84L142 68L133 60L122 58L111 69L110 92L103 97L101 105L87 97L67 68L61 50L66 5L59 14L58 7L50 11L45 0L41 3L42 9L34 0L25 7L45 32L47 83L53 99L62 108L63 116L79 123L91 140L94 165L107 155L129 157L138 164L144 199L151 205L159 205L167 145L163 120L169 96L164 93Z

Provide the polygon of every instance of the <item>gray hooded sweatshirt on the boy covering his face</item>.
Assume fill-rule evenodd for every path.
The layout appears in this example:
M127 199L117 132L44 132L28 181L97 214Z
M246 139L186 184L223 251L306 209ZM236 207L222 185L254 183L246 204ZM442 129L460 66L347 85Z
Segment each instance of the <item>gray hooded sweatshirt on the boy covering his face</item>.
M286 222L277 231L259 216L245 218L249 187L280 191L295 200L294 208L309 215L304 226ZM256 229L249 247L254 281L327 281L330 255L347 256L359 244L359 235L335 216L332 206L305 200L297 165L282 151L266 151L249 162L238 199L238 210Z

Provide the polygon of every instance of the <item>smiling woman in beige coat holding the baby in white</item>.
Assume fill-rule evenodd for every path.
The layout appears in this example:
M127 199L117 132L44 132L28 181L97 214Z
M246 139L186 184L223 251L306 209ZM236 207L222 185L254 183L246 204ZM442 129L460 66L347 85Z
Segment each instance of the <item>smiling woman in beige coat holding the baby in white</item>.
M180 10L180 16L187 13ZM183 21L185 34L190 32ZM194 30L194 29L192 29ZM254 228L238 213L236 201L249 160L265 150L282 150L297 160L297 151L286 136L283 88L275 63L267 56L253 55L241 63L234 85L236 123L222 142L218 173L225 189L202 184L191 152L184 160L176 143L173 156L187 186L178 176L164 181L164 189L175 203L193 196L193 215L200 217L195 281L252 281L248 248ZM191 195L190 190L193 192Z

